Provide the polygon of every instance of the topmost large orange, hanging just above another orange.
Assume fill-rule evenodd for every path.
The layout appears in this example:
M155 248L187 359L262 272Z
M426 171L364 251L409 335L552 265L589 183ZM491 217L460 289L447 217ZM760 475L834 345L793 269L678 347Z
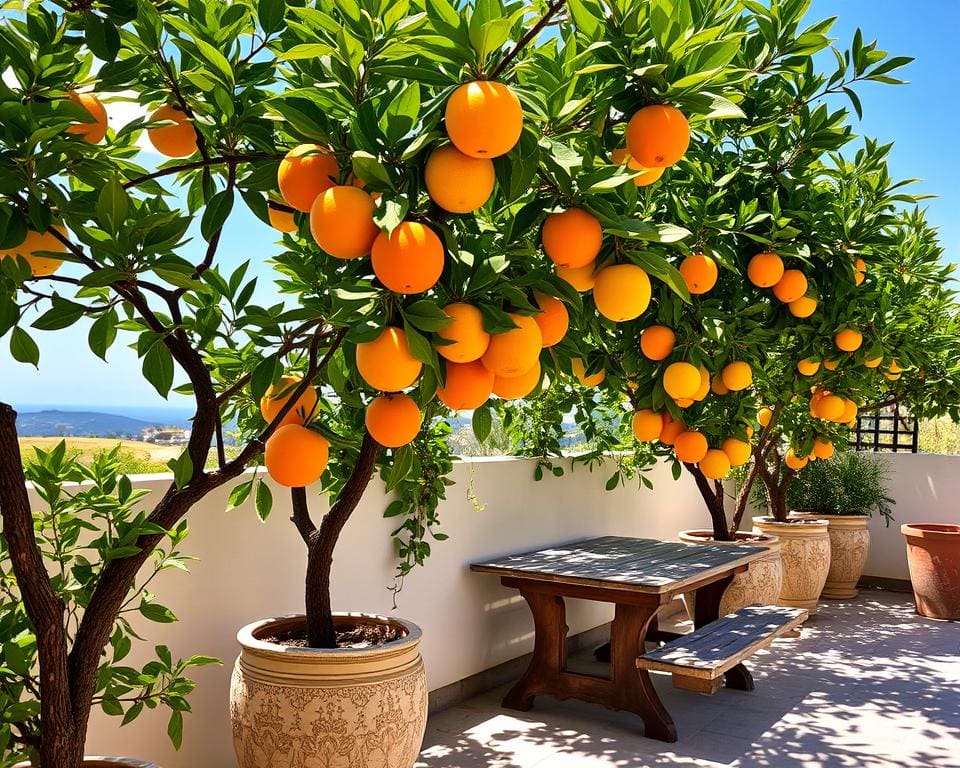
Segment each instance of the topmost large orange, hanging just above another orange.
M447 100L447 135L470 157L492 159L509 152L523 132L523 107L510 87L475 80L457 88Z

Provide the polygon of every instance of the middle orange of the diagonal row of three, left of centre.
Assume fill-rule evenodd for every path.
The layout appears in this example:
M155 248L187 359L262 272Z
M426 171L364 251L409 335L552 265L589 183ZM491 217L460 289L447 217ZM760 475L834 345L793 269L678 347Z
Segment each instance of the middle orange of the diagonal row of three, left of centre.
M310 234L321 250L334 258L366 256L380 234L373 223L376 205L357 187L330 187L317 195L310 208Z

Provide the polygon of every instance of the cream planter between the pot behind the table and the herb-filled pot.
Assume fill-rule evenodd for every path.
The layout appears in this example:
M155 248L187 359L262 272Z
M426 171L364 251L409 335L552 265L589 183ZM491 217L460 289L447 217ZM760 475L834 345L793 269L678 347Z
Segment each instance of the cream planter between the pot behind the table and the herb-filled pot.
M817 612L817 600L830 570L830 534L826 520L779 523L771 517L753 518L754 530L780 539L783 583L779 605Z

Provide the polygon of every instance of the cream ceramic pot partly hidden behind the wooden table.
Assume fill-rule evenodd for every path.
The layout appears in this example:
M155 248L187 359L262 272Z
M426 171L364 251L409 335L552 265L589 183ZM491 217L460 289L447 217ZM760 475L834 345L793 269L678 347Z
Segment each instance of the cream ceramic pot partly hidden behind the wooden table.
M761 541L744 541L744 539L761 538ZM720 598L720 615L725 616L746 605L771 605L776 603L780 594L780 583L783 580L783 570L780 565L780 540L776 536L767 534L737 531L737 541L714 541L713 531L696 529L680 531L680 541L690 544L714 544L721 547L766 547L769 554L750 563L750 567L743 573L733 577L733 581L724 590ZM687 608L687 615L693 619L696 610L696 592L686 592L683 595L683 604Z

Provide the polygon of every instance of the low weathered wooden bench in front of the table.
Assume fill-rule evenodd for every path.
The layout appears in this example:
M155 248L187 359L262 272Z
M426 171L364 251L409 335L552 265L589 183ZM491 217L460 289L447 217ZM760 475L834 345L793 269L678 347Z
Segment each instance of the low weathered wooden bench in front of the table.
M750 605L645 653L637 667L672 673L675 688L716 693L727 672L806 618L803 608Z

